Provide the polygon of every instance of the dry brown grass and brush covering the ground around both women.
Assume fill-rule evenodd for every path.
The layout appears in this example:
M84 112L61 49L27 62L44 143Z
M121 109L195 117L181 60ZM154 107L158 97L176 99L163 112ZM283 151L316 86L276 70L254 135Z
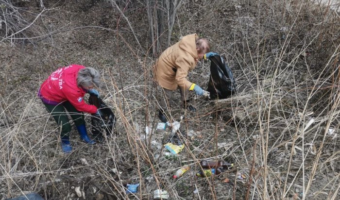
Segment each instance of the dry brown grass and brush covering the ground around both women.
M185 116L179 134L185 149L176 158L166 158L153 142L167 143L171 132L154 128L159 93L144 1L116 7L106 0L9 2L0 0L1 200L28 192L75 200L77 186L87 200L153 199L158 188L173 200L339 199L340 16L334 2L184 0L171 44L188 33L209 38L229 63L238 94L194 100L197 113L182 110L174 95L171 121ZM35 94L56 67L72 63L102 72L100 92L118 125L95 146L73 131L75 150L65 155L58 127ZM188 79L206 86L209 63ZM89 128L87 114L86 121ZM207 158L236 165L196 177ZM173 180L187 164L191 169ZM246 178L237 179L238 172ZM126 183L140 183L138 192L127 195Z

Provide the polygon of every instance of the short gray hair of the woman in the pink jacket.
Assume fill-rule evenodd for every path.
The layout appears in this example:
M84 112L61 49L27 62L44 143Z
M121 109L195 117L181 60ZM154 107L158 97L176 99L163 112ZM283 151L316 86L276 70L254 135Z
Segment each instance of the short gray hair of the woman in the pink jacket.
M90 86L99 86L101 83L101 75L100 73L92 68L86 67L80 69L77 76L77 85L78 87L90 87Z

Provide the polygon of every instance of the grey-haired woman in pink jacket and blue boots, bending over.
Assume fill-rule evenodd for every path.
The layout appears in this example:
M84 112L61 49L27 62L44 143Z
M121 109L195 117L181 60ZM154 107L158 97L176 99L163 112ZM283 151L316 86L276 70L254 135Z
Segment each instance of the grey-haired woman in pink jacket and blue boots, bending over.
M82 140L89 145L95 144L87 135L82 112L100 116L96 106L86 104L84 101L85 93L99 96L98 91L93 89L94 86L99 86L99 84L99 72L94 68L81 65L59 68L41 84L38 97L58 126L61 126L61 147L64 153L72 151L69 142L71 124L68 121L66 110L72 117Z

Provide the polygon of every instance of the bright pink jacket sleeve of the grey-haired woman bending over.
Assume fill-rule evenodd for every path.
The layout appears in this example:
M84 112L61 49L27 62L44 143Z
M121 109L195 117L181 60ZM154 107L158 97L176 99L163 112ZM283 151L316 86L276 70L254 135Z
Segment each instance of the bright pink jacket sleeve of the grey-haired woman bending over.
M84 101L84 96L81 93L68 92L65 94L66 99L80 112L86 112L94 114L97 112L97 107L94 105L86 104Z

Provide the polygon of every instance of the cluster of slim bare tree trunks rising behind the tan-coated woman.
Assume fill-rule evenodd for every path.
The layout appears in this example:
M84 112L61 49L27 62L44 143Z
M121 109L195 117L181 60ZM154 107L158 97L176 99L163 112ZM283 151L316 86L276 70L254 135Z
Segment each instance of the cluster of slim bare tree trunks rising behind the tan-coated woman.
M167 24L168 30L166 47L170 45L176 11L182 2L183 0L146 0L153 56L156 56L161 50L165 36L165 24Z

